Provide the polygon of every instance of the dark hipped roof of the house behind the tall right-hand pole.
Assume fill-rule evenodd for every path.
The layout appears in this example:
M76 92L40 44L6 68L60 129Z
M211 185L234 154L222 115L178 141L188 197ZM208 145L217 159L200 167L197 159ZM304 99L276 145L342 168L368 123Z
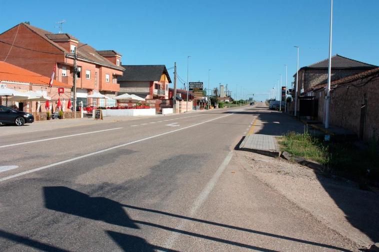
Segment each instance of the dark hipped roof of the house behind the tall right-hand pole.
M317 63L308 65L302 68L327 68L329 64L329 59L321 60ZM373 68L377 67L375 65L367 64L354 59L346 58L341 55L334 55L331 57L331 68Z

